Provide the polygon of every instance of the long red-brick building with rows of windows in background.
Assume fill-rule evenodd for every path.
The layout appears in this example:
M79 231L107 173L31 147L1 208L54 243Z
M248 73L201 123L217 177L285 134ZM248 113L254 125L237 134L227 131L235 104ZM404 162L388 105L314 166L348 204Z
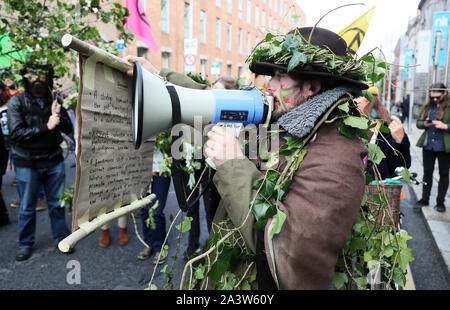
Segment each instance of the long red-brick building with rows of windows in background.
M126 5L125 0L118 1ZM136 36L127 46L127 55L144 56L157 68L186 72L184 39L194 38L195 72L210 81L218 76L211 74L211 64L220 62L220 75L237 77L247 69L247 56L268 31L285 33L305 22L305 13L295 0L141 1L158 53Z

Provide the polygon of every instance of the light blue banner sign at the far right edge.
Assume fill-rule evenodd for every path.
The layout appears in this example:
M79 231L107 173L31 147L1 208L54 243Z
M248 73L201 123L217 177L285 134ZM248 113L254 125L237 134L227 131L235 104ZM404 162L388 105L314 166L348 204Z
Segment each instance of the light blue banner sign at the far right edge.
M440 38L440 53L439 57L439 67L445 67L447 62L447 42L448 42L448 27L450 21L450 12L438 12L434 13L433 20L433 39L431 46L431 66L434 66L435 53L436 53L436 43L437 38ZM438 47L439 48L439 47Z

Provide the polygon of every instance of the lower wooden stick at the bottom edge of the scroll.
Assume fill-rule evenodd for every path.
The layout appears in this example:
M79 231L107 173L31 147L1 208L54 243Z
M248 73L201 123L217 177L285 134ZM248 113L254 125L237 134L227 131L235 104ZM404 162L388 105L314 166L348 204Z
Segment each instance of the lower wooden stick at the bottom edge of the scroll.
M65 239L61 240L58 243L59 250L63 253L69 252L69 250L73 248L75 244L77 244L81 239L87 237L98 228L102 227L106 223L118 219L121 216L124 216L125 214L131 213L137 209L141 209L146 205L151 204L155 198L156 195L151 194L150 196L147 196L140 200L136 200L127 206L115 209L110 213L102 214L93 219L91 222L80 224L79 225L80 228L78 230L74 231L73 233L71 233L69 236L67 236Z

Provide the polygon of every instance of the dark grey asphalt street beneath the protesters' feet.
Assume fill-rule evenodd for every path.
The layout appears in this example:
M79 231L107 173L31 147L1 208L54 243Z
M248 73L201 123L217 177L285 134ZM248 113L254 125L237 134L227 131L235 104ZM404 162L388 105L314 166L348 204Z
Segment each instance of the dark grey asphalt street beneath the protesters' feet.
M75 168L70 166L74 156L66 160L66 184L71 185L75 179ZM130 217L128 233L130 242L125 246L118 244L119 229L117 223L111 224L111 245L101 248L98 245L100 231L96 231L75 247L71 255L61 254L55 249L51 239L50 223L47 211L37 213L36 243L32 257L25 262L16 262L17 214L18 209L10 208L11 202L18 198L16 187L12 186L14 173L7 171L3 176L2 193L8 206L10 225L0 228L0 290L142 290L148 287L154 265L153 257L146 261L138 260L137 254L143 249L138 240L133 219ZM413 205L414 192L404 187L405 199L401 201L402 228L413 237L409 246L413 249L415 260L410 263L414 286L417 290L448 290L450 281L447 269L436 248L422 213L416 212ZM178 205L173 187L169 192L165 215L168 223L178 212ZM204 217L203 203L200 216ZM71 214L67 213L67 223L71 223ZM141 221L136 217L136 227L141 234ZM169 225L167 225L169 229ZM205 221L202 221L201 243L207 238ZM179 288L184 268L182 253L187 245L187 234L177 239L178 231L174 228L168 239L168 268L174 275L172 284ZM177 245L180 251L177 253ZM173 261L172 256L177 256ZM165 265L165 264L164 264ZM158 267L153 283L158 289L164 288L167 278ZM79 277L73 277L73 271L79 268Z

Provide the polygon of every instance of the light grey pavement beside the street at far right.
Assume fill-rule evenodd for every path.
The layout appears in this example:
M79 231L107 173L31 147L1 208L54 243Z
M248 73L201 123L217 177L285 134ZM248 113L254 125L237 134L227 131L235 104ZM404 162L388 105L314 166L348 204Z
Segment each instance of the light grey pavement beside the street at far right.
M417 173L417 180L422 181L423 178L423 161L422 161L422 148L417 147L416 143L419 140L420 135L423 130L420 130L415 125L415 120L413 121L411 128L408 128L407 123L405 124L405 130L408 134L409 140L411 142L410 152L411 152L411 167L410 172ZM436 205L437 196L437 184L439 182L439 171L438 164L436 161L434 173L433 173L433 186L431 189L430 205L428 207L422 207L421 212L427 223L427 227L433 235L436 246L438 247L442 259L447 266L447 270L450 273L450 190L447 191L446 196L446 212L437 212L434 210ZM422 198L422 184L412 185L412 189L415 193L417 200Z

